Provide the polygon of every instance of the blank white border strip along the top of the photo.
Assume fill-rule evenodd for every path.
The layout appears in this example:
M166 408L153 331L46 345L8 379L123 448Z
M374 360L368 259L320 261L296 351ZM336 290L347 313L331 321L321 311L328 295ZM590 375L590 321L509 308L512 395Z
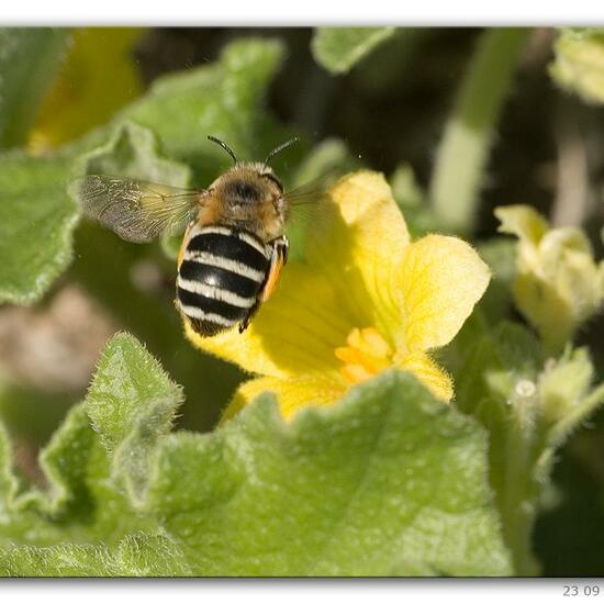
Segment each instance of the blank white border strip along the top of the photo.
M597 0L4 0L4 25L593 25L604 24Z

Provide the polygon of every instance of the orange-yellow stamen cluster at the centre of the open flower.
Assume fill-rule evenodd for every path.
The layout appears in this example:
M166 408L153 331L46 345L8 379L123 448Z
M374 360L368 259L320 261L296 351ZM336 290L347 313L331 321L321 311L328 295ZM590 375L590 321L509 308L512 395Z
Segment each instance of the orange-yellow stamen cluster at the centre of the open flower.
M348 346L335 349L335 356L344 361L339 372L350 383L368 380L392 366L393 350L373 327L353 329L346 344Z

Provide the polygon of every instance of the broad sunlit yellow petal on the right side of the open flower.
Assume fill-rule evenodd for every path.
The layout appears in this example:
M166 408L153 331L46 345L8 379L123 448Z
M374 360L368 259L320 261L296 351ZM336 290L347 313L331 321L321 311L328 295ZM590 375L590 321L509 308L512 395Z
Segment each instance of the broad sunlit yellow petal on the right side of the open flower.
M403 329L402 351L448 344L489 284L489 267L457 237L428 235L411 244L399 271Z

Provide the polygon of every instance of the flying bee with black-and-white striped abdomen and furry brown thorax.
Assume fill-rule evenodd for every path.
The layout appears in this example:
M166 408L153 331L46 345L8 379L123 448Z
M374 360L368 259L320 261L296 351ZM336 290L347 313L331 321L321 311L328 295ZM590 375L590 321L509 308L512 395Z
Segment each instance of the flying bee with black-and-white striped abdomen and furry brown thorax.
M88 175L70 193L85 214L128 242L147 243L186 226L178 254L176 306L203 337L249 325L277 287L288 260L283 233L292 199L270 160L243 163L214 136L234 165L208 189L180 189L131 178Z

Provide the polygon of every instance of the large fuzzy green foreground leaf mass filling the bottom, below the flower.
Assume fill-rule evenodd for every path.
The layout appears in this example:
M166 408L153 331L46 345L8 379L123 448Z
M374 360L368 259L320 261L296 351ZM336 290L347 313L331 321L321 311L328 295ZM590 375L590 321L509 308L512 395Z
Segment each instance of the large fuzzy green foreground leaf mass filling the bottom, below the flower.
M112 338L42 454L47 502L33 489L5 511L0 572L511 572L485 435L413 377L384 373L291 423L265 394L206 435L166 435L179 398L134 338Z

